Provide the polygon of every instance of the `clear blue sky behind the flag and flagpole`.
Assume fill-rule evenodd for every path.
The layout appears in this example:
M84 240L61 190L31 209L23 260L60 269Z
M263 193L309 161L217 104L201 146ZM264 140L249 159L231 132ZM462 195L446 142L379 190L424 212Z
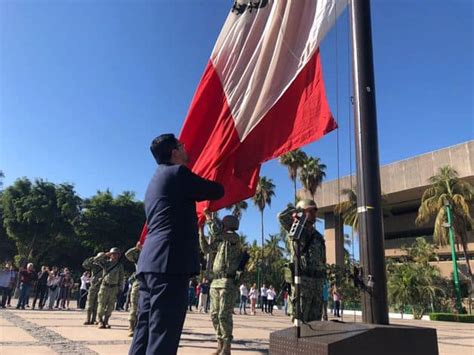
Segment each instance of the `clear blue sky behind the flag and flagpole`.
M142 199L155 169L149 143L179 133L231 5L0 1L4 185L26 176L73 183L82 197L109 188ZM381 164L473 139L472 1L373 0L372 21ZM328 179L355 169L348 51L344 12L321 46L340 129L304 147ZM277 186L265 211L266 234L276 233L292 185L276 161L262 174ZM253 207L243 217L250 239L259 218Z

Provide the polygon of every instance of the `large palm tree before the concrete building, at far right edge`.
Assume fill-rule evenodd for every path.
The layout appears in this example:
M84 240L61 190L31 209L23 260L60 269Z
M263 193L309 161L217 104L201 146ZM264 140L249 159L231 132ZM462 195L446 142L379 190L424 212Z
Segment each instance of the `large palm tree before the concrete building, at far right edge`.
M447 245L449 232L448 228L444 226L444 223L447 222L445 206L451 206L455 242L462 245L467 270L472 280L467 231L471 230L474 225L469 210L474 202L474 187L468 182L459 180L458 172L448 165L439 168L438 173L430 177L428 181L431 186L425 190L421 197L416 223L423 225L435 217L433 239L438 245Z

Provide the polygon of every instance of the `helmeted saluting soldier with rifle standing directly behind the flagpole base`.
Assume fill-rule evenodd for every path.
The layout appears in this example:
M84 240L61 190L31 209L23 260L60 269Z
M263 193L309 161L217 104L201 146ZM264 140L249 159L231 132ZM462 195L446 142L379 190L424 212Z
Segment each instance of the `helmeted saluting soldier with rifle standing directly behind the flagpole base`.
M307 221L301 234L300 243L300 296L301 296L301 320L311 322L321 320L323 306L323 284L326 279L326 245L324 238L315 228L317 206L313 200L301 200L296 205L296 209L288 207L278 215L280 224L289 232L295 220L295 214L303 211L307 216ZM290 249L290 269L293 271L295 260L294 241L291 236L287 239ZM287 270L290 271L290 270ZM289 277L288 277L289 276ZM291 298L288 302L288 311L292 321L295 319L295 298L294 279L291 272L285 272L285 279L291 283Z

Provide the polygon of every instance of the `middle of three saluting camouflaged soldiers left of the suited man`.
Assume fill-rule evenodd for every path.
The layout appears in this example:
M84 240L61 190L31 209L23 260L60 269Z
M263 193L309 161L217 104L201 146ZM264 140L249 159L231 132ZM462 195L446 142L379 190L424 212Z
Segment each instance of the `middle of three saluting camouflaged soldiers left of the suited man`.
M119 259L120 252L118 248L112 248L110 252L94 258L94 263L100 265L104 273L99 289L99 307L97 311L99 328L101 329L110 328L109 318L115 308L115 302L123 284L123 265Z

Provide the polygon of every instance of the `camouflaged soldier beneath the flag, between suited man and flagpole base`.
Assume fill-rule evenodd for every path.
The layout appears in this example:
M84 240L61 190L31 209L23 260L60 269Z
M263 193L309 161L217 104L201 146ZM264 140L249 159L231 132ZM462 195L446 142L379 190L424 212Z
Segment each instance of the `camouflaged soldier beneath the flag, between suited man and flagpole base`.
M226 216L220 221L211 218L205 210L207 225L212 241L209 244L200 234L199 242L202 251L207 254L215 252L212 265L214 280L211 283L211 319L217 335L217 352L230 354L232 342L232 313L237 293L237 282L241 272L238 271L242 256L242 246L238 234L239 220L235 216Z

